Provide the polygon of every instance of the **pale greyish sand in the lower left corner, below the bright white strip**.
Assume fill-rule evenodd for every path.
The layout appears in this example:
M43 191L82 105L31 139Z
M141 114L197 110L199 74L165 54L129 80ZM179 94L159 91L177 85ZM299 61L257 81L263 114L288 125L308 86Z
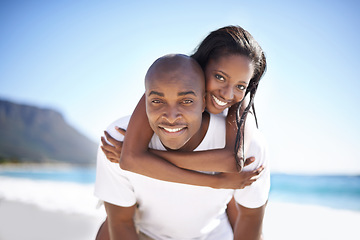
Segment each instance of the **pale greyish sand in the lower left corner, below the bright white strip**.
M33 204L0 201L0 240L95 239L104 217L50 211Z

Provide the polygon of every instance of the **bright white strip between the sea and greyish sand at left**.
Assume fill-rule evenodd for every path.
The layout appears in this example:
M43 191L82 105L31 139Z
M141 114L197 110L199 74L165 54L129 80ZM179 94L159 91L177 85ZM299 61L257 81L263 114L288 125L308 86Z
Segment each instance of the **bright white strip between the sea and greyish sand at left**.
M36 205L48 211L84 215L105 214L97 209L93 184L0 177L0 199Z

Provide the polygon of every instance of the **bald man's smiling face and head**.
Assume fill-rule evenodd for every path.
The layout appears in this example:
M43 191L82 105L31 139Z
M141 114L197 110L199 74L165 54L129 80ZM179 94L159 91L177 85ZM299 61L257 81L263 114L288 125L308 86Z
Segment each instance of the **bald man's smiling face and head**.
M200 67L185 56L176 55L155 64L145 79L146 113L164 146L178 150L200 130L204 76Z

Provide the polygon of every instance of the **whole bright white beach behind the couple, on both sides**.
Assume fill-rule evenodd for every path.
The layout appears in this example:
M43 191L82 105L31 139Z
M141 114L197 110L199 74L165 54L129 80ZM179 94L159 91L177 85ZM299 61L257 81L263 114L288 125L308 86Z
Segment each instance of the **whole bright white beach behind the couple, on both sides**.
M93 183L0 176L0 240L95 239L105 210L93 192ZM263 232L265 240L358 239L359 223L360 211L270 196Z

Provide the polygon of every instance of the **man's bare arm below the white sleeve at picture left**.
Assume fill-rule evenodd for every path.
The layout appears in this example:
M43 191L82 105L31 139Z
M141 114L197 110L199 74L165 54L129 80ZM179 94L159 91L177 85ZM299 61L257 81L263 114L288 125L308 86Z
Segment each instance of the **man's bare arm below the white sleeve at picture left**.
M120 207L105 202L105 209L109 222L110 239L138 240L134 224L134 213L136 205L131 207Z

